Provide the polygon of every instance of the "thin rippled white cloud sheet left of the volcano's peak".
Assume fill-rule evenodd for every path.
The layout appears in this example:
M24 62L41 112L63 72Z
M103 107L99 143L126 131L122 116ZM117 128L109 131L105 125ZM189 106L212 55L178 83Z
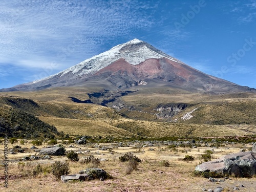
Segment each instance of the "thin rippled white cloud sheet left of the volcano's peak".
M148 13L156 6L141 1L3 0L0 58L24 67L49 65L56 59L65 63L77 52L86 59L101 51L106 39L153 25ZM66 54L64 60L61 54Z

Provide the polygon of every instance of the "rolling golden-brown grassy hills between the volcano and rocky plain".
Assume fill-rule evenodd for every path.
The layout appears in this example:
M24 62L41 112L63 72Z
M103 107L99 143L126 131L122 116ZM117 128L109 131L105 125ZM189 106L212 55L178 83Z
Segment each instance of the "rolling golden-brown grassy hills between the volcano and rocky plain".
M140 95L136 96L138 94L136 92L133 93L134 95L126 95L120 99L122 102L125 101L125 107L117 110L98 104L76 103L69 98L79 95L80 99L86 98L84 90L74 95L71 90L66 90L61 96L56 94L56 99L52 100L56 92L60 93L59 90L54 89L33 92L33 94L16 92L17 96L13 96L13 92L12 96L5 93L5 96L0 96L0 103L4 109L1 110L1 117L3 117L3 112L5 115L8 114L7 109L9 109L33 117L33 122L37 122L38 119L33 116L35 114L41 121L56 127L58 132L74 136L136 138L141 136L218 137L256 134L255 96L250 94L247 94L247 97L243 94L231 94L222 96L222 98L200 94L182 94L182 96L173 95L172 97L158 95L157 98L163 102L158 103L156 97L152 95L144 95L143 99L138 99ZM47 95L52 96L49 98ZM33 100L35 98L40 98L40 100ZM196 102L195 99L193 101L193 98L202 102ZM177 102L177 100L182 102ZM171 105L176 106L176 110L171 108ZM165 110L157 111L156 109L159 108ZM191 113L192 118L182 119L185 114L196 108L197 110ZM160 112L166 118L156 115ZM174 116L169 117L170 115ZM30 122L28 118L23 118L24 124L28 122ZM13 121L9 126L14 127L15 123ZM39 129L38 133L40 131L42 130Z

